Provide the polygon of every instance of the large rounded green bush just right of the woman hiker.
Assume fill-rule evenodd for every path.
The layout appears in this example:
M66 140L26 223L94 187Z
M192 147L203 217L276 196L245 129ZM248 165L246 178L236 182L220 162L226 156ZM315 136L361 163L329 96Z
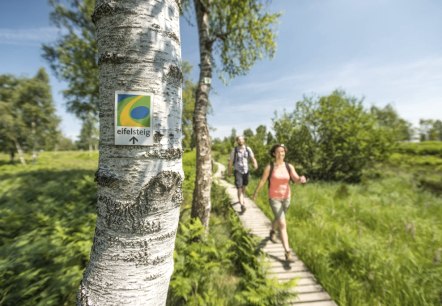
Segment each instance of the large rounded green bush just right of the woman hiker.
M343 91L306 97L273 125L275 138L289 148L288 160L315 179L357 182L363 170L384 160L393 146L362 101Z

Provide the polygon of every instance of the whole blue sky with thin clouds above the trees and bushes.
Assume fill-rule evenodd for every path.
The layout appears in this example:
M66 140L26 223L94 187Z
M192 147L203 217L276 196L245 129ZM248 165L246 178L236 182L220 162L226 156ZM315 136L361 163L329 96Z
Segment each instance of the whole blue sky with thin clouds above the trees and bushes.
M277 52L228 86L214 78L213 136L270 127L275 111L337 88L364 98L367 108L390 103L415 126L422 118L442 120L442 1L274 0L270 8L283 13ZM33 76L46 67L62 131L75 139L81 123L66 113L65 85L41 58L41 43L57 35L49 12L46 0L0 0L0 74ZM196 39L183 20L182 57L195 69Z

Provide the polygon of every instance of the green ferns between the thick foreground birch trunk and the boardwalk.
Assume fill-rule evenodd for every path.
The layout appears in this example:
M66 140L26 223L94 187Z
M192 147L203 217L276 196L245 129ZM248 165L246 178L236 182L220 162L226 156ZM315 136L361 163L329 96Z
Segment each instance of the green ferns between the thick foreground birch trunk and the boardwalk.
M186 175L195 172L195 152L184 155L183 165ZM213 209L207 235L199 219L189 218L193 183L193 177L184 182L175 271L167 304L283 305L293 282L281 285L266 279L258 241L242 228L221 187L212 186Z

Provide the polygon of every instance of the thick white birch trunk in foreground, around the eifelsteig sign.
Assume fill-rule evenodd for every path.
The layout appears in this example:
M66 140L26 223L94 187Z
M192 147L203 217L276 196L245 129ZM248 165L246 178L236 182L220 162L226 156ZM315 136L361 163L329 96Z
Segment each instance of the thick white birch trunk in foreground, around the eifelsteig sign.
M182 201L175 0L97 0L97 224L77 305L164 305ZM152 146L114 145L115 92L152 93Z

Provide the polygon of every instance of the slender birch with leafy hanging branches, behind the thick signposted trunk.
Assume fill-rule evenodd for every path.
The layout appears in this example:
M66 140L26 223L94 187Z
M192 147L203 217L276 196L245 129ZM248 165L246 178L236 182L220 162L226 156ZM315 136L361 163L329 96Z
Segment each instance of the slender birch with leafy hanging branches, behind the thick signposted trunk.
M264 2L267 1L192 1L199 34L200 74L193 115L197 166L191 215L199 218L206 228L211 209L212 152L207 113L213 55L219 54L219 74L225 79L245 74L264 55L274 54L273 26L279 14L266 13Z

